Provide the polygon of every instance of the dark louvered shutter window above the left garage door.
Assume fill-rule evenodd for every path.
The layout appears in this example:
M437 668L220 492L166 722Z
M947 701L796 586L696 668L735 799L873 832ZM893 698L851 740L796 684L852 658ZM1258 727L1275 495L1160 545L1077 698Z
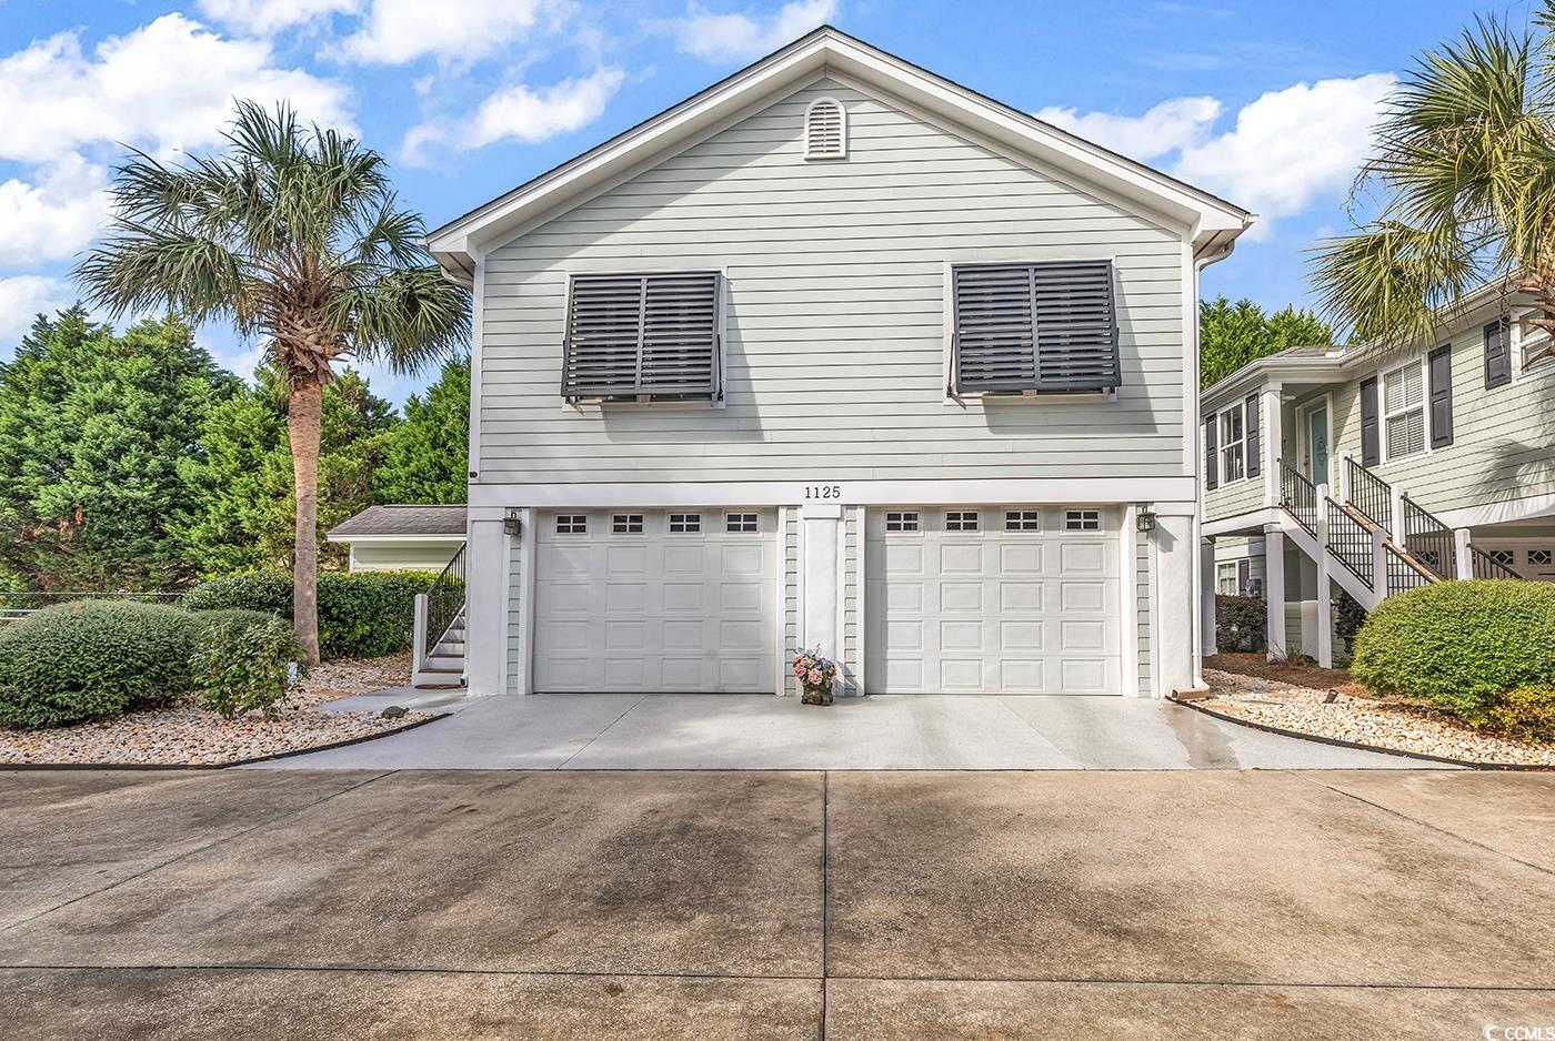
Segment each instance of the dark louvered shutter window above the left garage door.
M720 283L718 272L574 275L561 395L717 399Z

